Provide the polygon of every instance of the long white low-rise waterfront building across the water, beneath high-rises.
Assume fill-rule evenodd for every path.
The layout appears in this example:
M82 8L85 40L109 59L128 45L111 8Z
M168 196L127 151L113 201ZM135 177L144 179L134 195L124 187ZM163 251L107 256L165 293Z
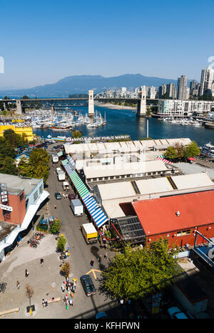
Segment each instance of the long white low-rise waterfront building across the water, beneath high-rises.
M186 116L210 112L214 107L214 101L207 100L159 100L158 115L160 116Z

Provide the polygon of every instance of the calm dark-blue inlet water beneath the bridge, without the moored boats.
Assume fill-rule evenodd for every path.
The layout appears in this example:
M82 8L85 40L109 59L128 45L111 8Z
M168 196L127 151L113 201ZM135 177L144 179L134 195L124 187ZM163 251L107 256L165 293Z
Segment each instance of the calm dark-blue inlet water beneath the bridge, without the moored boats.
M72 110L81 110L82 114L88 112L88 107L72 107ZM137 140L139 137L146 137L146 119L136 117L133 110L115 110L106 107L96 107L101 115L105 115L107 123L101 127L88 128L86 125L76 127L83 131L84 137L110 136L119 134L129 134L131 139ZM148 136L153 139L173 139L178 137L189 137L198 143L199 146L211 142L214 144L214 130L205 129L205 127L181 126L162 122L155 118L148 120ZM72 132L56 132L49 129L34 129L34 133L40 136L47 137L49 134L52 137L66 136L71 137Z

